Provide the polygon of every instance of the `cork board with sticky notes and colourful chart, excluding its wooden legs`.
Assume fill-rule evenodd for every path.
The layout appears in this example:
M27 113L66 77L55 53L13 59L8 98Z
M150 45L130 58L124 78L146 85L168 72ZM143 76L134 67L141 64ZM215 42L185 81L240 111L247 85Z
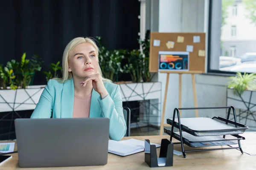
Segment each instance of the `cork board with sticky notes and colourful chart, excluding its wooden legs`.
M169 54L168 54L169 53ZM184 71L184 72L205 72L205 33L159 33L151 32L150 36L150 57L149 57L149 71L161 72L160 54L164 55L169 71ZM177 57L175 59L175 55ZM183 56L183 57L180 57ZM160 59L161 58L161 59ZM174 60L173 60L174 59ZM180 65L176 65L177 70L172 69L172 65L169 61L176 61L180 59L187 62L183 62L186 68L181 68ZM168 64L169 62L169 64ZM166 63L163 63L166 66ZM175 67L173 67L175 68ZM178 70L180 69L181 70ZM166 71L166 70L165 70Z

